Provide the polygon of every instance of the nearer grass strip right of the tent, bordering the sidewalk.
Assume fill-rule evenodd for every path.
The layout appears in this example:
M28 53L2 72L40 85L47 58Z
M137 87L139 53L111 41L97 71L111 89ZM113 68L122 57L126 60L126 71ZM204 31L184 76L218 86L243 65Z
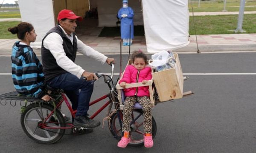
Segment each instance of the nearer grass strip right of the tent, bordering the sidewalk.
M195 16L197 34L235 34L238 15ZM189 34L195 34L193 17L189 19ZM243 30L256 33L256 14L244 14Z

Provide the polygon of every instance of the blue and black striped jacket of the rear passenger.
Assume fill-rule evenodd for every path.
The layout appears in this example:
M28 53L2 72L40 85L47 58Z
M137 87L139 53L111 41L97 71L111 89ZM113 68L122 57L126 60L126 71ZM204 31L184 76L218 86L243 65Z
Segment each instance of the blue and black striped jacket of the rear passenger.
M12 80L20 94L32 95L35 98L44 96L43 67L33 49L20 45L17 41L12 46Z

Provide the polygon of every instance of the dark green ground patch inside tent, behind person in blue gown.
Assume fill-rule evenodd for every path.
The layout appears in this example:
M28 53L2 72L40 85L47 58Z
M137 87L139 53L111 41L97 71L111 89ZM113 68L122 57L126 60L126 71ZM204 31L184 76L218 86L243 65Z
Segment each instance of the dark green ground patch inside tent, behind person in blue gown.
M99 37L118 37L120 27L104 27L99 34ZM144 36L144 26L134 26L134 36Z

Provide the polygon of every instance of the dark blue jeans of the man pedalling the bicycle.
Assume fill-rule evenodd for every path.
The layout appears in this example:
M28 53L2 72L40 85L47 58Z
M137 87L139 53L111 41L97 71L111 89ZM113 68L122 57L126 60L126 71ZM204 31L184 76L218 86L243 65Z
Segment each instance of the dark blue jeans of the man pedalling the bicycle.
M77 110L76 116L87 115L93 93L93 81L85 81L82 77L78 79L73 74L65 73L47 81L47 84L53 88L64 90L72 102L72 109ZM80 92L79 89L81 89Z

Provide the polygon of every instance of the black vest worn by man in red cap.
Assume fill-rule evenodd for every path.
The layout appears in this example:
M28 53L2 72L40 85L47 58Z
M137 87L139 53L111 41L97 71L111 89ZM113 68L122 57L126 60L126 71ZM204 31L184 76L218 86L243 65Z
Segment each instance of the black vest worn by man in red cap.
M57 77L61 74L67 73L64 69L58 66L56 59L52 56L49 49L44 48L44 39L48 36L48 34L56 32L58 33L63 40L63 48L66 53L66 56L75 62L76 59L76 51L77 51L77 41L76 41L76 34L73 33L73 45L69 38L67 38L62 31L62 29L57 25L52 28L43 38L42 40L42 48L41 48L41 55L42 55L42 63L43 63L43 72L45 81L49 81L54 77Z

